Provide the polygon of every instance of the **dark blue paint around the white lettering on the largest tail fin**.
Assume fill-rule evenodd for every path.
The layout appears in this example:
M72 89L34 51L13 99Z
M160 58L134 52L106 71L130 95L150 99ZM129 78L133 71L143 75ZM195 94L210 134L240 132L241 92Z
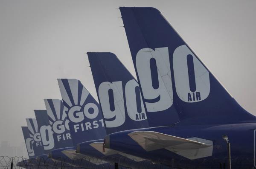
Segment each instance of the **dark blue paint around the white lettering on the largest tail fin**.
M173 104L167 110L157 113L149 112L147 114L148 120L153 126L167 126L178 121L182 121L186 124L231 124L255 121L255 116L240 107L210 72L209 96L203 101L194 103L182 101L175 90L173 53L176 48L186 45L186 42L184 42L172 26L169 25L160 11L155 8L120 7L120 11L139 84L142 77L138 76L136 66L138 51L143 48L151 48L154 50L155 48L165 47L167 47L169 51ZM186 47L188 47L188 45L186 45ZM195 53L193 54L198 58ZM189 75L190 74L189 72ZM177 119L176 115L179 119Z

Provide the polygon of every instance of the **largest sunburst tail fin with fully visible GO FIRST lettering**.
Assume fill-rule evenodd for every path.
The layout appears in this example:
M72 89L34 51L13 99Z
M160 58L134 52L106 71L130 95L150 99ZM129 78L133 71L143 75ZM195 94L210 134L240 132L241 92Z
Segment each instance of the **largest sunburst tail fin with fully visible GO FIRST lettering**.
M104 127L99 104L77 79L58 79L64 110L75 132Z

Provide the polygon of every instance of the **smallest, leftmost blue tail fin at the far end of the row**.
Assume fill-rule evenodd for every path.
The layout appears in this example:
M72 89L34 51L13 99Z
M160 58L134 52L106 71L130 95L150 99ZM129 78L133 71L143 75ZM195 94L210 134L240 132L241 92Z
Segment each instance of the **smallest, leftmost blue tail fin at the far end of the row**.
M25 141L25 144L26 144L26 149L27 149L27 152L28 152L28 155L29 155L29 158L32 158L32 157L35 157L35 152L34 152L34 149L33 149L33 138L31 138L29 136L29 128L28 127L21 127L21 130L23 132L23 137L24 137L24 141Z

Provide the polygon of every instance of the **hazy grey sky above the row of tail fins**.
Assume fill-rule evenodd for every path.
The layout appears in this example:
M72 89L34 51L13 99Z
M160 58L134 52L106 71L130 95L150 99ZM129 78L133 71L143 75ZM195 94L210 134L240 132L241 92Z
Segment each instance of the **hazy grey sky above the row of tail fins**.
M158 8L193 51L256 115L256 1L0 0L0 141L61 99L57 78L81 80L96 97L87 51L113 52L135 75L119 6Z

